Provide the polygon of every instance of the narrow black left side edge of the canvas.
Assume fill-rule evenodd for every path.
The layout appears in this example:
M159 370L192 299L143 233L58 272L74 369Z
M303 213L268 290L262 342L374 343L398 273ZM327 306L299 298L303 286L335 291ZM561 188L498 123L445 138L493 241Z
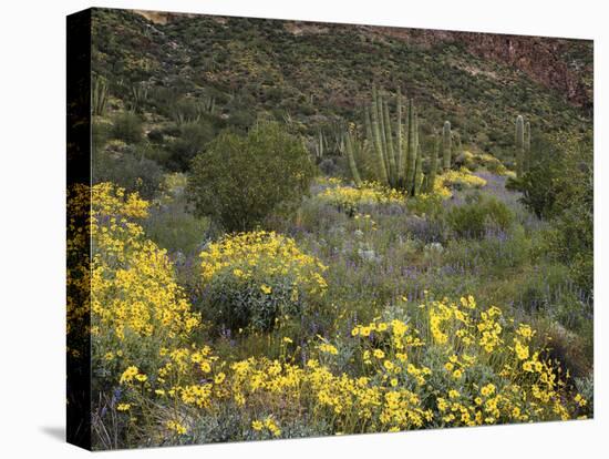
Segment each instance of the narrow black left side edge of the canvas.
M66 191L91 186L91 18L92 9L66 17ZM66 194L68 196L68 194ZM91 210L91 194L83 196ZM90 272L91 227L89 214L70 215L66 202L66 237L70 222L85 237L82 253L66 254L66 268L82 266ZM81 295L82 294L82 295ZM66 334L66 429L69 443L91 450L91 308L90 289L75 294L66 283L66 295L84 308L82 320L70 324Z

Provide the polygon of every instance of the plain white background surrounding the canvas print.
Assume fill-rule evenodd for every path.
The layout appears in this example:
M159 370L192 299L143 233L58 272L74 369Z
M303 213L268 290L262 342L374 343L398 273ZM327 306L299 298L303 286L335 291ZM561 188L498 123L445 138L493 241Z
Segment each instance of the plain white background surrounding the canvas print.
M602 0L6 0L0 16L0 456L72 458L64 429L65 14L90 6L595 39L596 419L118 452L182 457L598 457L607 405L608 32ZM603 30L605 27L605 30ZM605 230L606 231L606 230ZM605 360L605 365L603 365ZM605 430L605 434L602 431ZM602 452L600 452L602 451ZM606 456L605 456L606 457Z

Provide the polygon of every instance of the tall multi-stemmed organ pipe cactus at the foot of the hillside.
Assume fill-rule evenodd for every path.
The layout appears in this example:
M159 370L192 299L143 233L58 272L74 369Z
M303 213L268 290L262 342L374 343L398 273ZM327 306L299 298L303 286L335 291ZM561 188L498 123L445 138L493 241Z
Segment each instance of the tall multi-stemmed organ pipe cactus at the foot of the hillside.
M430 154L429 171L424 174L414 102L410 99L407 104L403 104L402 94L398 91L394 121L391 114L389 101L383 98L382 91L373 86L372 102L364 108L365 137L359 142L354 129L350 129L345 135L345 152L353 181L357 185L361 183L357 157L369 154L374 157L376 178L388 187L405 191L410 195L433 190L437 146Z

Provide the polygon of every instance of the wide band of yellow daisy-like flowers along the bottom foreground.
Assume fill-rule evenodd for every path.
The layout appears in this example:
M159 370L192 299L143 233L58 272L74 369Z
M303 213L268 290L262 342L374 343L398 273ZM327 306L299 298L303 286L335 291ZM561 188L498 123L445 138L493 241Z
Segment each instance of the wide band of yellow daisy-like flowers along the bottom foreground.
M165 354L168 361L144 387L159 402L180 407L176 416L188 409L217 412L235 404L252 419L252 432L275 437L281 435L280 425L303 414L334 432L373 432L569 419L586 406L579 394L568 401L566 381L555 364L540 359L540 349L523 361L515 347L498 345L506 334L506 327L496 327L503 320L498 308L479 310L469 296L457 303L426 300L417 309L412 324L392 319L354 326L345 345L354 349L350 374L336 370L333 359L343 358L342 347L327 340L303 366L266 357L230 364L208 347L189 347ZM531 346L535 330L528 325L510 333ZM431 355L440 359L430 360ZM128 401L144 407L137 375L137 368L125 370L125 379L133 381L126 385Z

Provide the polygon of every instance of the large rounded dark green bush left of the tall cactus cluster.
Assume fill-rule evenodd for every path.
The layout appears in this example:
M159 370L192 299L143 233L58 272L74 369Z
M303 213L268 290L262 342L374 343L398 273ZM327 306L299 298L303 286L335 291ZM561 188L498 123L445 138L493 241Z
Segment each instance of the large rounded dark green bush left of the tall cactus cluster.
M198 215L229 232L247 231L271 213L291 214L313 172L302 142L264 123L245 136L219 134L194 160L188 191Z

